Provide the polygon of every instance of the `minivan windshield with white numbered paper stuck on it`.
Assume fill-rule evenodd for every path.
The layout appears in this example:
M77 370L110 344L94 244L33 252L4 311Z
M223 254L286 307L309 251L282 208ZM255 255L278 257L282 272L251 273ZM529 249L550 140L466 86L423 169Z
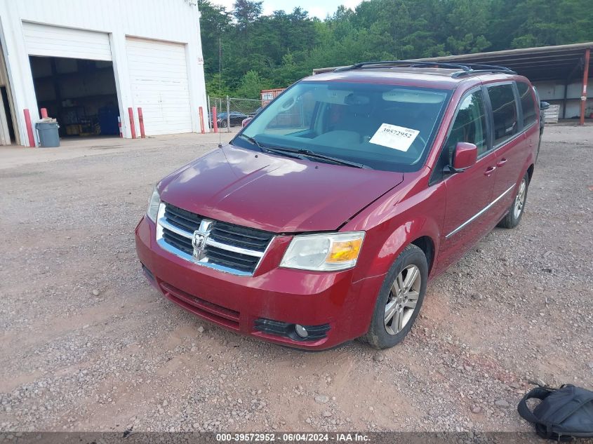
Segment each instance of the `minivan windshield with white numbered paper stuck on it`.
M311 161L340 159L359 168L418 170L449 97L448 90L432 88L300 81L231 143Z

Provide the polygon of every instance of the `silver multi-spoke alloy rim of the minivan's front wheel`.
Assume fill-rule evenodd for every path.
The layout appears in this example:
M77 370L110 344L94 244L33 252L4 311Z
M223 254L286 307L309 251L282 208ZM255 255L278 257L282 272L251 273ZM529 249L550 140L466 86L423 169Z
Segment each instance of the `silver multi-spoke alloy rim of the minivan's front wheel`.
M410 322L418 304L421 284L420 269L415 265L408 265L397 275L385 304L383 318L389 335L397 335Z

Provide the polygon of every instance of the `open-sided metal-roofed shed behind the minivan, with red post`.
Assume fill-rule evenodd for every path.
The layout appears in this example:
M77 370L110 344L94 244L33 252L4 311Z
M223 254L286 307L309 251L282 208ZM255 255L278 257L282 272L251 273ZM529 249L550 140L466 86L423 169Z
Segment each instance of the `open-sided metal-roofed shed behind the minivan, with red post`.
M491 53L448 55L426 58L434 62L465 62L501 65L526 76L538 88L542 100L561 105L562 119L578 112L580 124L593 114L587 107L587 82L592 72L593 41L571 45L541 46L539 48L509 49ZM589 104L593 94L589 92ZM591 109L587 112L587 109Z

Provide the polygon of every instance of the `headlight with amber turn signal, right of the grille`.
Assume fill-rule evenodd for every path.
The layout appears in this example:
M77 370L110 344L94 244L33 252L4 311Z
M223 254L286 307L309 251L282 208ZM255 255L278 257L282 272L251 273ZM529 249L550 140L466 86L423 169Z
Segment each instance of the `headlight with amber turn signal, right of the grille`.
M295 236L280 267L312 271L336 271L357 264L364 231Z

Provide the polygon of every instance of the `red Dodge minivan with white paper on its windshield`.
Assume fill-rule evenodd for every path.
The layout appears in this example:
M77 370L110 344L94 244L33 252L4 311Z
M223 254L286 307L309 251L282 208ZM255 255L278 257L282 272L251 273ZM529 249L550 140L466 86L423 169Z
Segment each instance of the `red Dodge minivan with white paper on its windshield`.
M165 177L135 229L149 281L229 330L392 347L430 279L521 220L539 143L504 67L369 62L307 77Z

